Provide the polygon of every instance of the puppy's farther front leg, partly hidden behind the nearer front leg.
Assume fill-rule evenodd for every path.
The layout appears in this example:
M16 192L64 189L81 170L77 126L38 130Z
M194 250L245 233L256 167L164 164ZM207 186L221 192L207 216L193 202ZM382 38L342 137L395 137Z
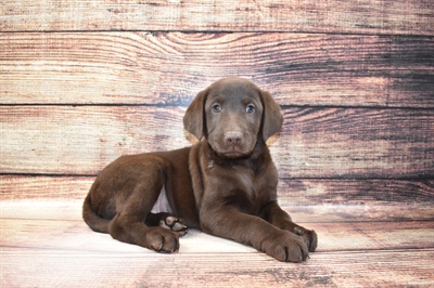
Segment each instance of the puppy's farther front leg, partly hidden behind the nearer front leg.
M280 208L277 202L269 202L263 209L260 217L281 230L290 231L295 235L301 236L306 243L309 252L314 252L315 249L317 249L317 233L315 233L315 231L312 230L307 230L292 222L290 214L282 210L282 208Z

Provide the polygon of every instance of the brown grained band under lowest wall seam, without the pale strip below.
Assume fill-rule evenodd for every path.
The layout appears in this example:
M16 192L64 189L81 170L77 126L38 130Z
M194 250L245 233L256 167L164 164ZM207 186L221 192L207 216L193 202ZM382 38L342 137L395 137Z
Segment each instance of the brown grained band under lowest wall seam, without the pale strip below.
M84 200L94 176L0 175L0 200ZM434 205L434 179L280 179L279 202L293 206Z

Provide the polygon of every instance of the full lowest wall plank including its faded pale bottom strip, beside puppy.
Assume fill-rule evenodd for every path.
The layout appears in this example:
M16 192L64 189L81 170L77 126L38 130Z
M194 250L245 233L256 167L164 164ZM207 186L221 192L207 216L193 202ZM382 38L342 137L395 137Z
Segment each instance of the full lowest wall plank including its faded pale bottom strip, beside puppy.
M2 175L1 217L77 220L93 179ZM434 220L432 181L281 179L278 196L297 223Z

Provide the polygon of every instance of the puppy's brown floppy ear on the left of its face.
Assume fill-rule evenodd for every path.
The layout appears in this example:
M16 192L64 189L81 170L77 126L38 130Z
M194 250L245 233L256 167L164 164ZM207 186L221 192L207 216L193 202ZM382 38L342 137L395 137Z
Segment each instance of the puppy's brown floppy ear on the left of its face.
M195 135L200 141L204 135L205 126L205 100L208 89L197 93L193 102L187 108L182 122L187 131Z

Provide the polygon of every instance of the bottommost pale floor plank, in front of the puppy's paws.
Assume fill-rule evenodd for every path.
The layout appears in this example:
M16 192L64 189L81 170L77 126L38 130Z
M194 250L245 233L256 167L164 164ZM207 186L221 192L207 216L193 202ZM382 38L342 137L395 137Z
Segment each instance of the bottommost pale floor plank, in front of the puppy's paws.
M112 240L114 241L114 240ZM431 287L434 249L312 253L305 264L260 253L95 253L3 248L5 287ZM333 263L333 264L332 264Z

